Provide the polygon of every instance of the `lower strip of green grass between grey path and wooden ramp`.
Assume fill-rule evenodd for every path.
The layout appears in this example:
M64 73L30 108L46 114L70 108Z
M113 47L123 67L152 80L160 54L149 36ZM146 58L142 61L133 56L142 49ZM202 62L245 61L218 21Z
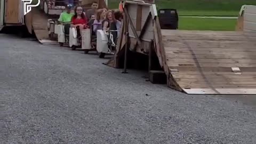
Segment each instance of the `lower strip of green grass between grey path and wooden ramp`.
M179 18L179 29L234 31L236 19Z

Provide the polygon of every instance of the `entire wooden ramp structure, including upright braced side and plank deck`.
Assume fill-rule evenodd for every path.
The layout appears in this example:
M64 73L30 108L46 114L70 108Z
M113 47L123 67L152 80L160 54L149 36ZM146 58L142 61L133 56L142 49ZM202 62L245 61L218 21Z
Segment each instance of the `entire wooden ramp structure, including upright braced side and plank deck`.
M132 58L147 57L151 82L163 74L167 86L188 94L256 94L255 6L245 6L243 31L161 29L155 4L145 2L126 1L124 13L115 56L106 65L126 68Z

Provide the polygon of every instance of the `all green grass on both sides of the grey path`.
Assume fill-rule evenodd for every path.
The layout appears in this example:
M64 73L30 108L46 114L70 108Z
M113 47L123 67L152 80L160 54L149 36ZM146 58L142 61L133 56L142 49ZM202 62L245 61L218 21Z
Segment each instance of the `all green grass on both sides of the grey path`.
M256 5L256 0L155 0L157 9L177 9L180 16L237 16L244 4ZM118 1L109 0L110 9ZM179 29L235 30L236 19L179 18Z

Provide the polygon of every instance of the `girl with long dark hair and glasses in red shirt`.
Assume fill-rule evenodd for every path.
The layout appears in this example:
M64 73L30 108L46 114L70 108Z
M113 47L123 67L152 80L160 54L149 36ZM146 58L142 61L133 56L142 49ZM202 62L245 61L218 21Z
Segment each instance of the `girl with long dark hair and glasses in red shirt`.
M82 30L85 28L88 28L87 26L87 18L84 14L83 7L82 6L76 6L75 7L75 14L71 18L71 27L76 27L79 29L80 35L82 34Z

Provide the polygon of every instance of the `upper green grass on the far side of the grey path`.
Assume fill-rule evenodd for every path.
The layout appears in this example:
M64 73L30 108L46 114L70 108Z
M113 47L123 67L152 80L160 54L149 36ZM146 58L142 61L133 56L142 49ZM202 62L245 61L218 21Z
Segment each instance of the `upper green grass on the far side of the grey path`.
M117 0L109 0L110 9L118 8ZM158 9L177 9L179 15L237 16L244 4L256 0L155 0Z

